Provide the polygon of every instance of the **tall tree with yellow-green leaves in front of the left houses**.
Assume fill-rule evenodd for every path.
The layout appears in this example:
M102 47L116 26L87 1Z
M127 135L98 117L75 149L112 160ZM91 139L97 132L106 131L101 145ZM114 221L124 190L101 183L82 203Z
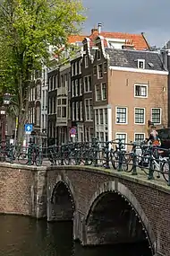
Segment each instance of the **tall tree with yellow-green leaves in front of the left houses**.
M68 47L84 21L80 0L4 0L0 5L0 94L12 93L19 124L27 111L32 72L49 60L49 45ZM26 112L25 111L25 112Z

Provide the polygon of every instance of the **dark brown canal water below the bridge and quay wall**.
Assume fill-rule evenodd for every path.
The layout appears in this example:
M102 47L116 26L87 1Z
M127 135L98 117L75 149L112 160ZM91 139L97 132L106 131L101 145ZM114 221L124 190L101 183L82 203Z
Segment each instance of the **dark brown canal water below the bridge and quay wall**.
M148 244L82 247L72 223L47 224L25 216L0 216L0 256L152 256Z

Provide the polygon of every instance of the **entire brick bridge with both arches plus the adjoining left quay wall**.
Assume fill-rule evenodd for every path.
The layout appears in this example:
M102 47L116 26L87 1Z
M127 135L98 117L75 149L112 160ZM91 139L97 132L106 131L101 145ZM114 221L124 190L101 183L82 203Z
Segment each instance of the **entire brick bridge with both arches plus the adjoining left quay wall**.
M0 163L0 213L72 220L84 245L144 242L170 255L170 188L141 174Z

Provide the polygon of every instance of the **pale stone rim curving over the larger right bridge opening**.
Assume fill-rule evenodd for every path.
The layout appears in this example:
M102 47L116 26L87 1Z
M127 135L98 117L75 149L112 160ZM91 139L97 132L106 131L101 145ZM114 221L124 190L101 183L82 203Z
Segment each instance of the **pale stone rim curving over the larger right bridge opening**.
M84 217L84 226L88 223L88 218L90 213L93 209L97 206L98 201L108 192L115 192L122 196L122 198L128 202L128 204L132 207L132 210L135 211L136 215L139 218L139 221L147 234L147 238L149 240L150 248L154 253L156 253L156 237L152 230L152 227L149 223L149 219L146 216L145 212L143 211L142 207L140 206L140 202L135 196L132 194L132 191L129 190L126 186L124 186L119 181L106 181L103 183L100 188L95 192L93 197L89 201L88 211ZM86 227L85 227L86 229Z

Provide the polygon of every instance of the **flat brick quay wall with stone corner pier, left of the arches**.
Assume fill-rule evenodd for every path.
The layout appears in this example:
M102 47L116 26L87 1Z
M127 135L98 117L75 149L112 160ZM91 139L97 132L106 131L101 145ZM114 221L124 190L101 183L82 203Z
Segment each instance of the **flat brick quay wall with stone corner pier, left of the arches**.
M0 213L47 216L46 168L0 163Z

